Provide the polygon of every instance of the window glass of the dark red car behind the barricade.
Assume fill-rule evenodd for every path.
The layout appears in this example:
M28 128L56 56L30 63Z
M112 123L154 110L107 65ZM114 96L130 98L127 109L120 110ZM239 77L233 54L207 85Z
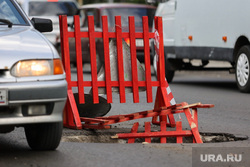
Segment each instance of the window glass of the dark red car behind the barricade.
M109 26L114 27L115 16L121 16L122 27L128 27L128 16L134 16L135 27L142 27L142 16L148 16L149 27L152 27L155 9L151 8L108 8L104 15L108 15Z

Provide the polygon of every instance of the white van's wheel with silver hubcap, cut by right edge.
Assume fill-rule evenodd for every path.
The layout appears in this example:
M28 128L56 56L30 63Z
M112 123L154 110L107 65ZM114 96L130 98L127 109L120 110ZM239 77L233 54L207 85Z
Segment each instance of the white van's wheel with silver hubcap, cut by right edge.
M236 82L241 92L250 92L250 45L240 48L236 59Z

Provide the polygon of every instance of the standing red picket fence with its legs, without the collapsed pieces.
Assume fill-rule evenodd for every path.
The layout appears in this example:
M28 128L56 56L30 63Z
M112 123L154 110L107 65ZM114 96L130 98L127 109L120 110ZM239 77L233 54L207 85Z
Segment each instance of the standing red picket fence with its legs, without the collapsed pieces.
M98 103L98 87L105 87L107 92L107 102L112 103L112 87L119 87L120 103L126 103L125 87L132 87L133 101L139 103L139 87L146 87L147 102L153 102L152 87L157 87L157 94L154 109L170 106L170 101L173 99L172 93L167 91L168 83L165 79L165 62L164 62L164 48L163 48L163 33L162 33L162 19L155 17L155 29L159 34L159 61L157 64L157 81L151 79L151 63L150 63L150 47L149 39L155 38L154 32L149 32L148 18L144 16L143 32L135 32L134 17L129 18L129 32L122 32L121 17L115 17L115 32L108 31L107 16L102 16L102 32L95 32L94 17L88 16L88 32L80 31L79 16L74 16L74 31L68 31L67 17L60 16L60 37L61 37L61 51L62 59L66 72L66 80L68 82L68 100L64 111L64 126L74 129L82 129L82 122L78 114L75 99L73 96L72 87L78 88L79 102L84 103L84 87L92 87L93 102ZM75 38L76 57L77 57L77 81L71 80L71 67L69 55L68 38ZM83 67L82 67L82 50L81 38L89 38L90 57L91 57L91 77L92 81L84 81ZM104 60L105 60L105 81L97 80L97 65L96 65L96 46L95 38L103 38L104 44ZM109 38L116 38L117 41L117 57L118 61L118 81L111 81L110 61L109 61ZM132 64L132 81L124 81L123 70L123 53L122 53L122 38L130 39L131 64ZM135 40L141 38L144 40L144 54L145 54L145 81L138 81L137 76L137 61L136 61L136 45ZM175 126L175 120L172 114L168 115L169 125ZM160 117L160 121L167 122L167 116ZM157 122L157 117L152 120Z

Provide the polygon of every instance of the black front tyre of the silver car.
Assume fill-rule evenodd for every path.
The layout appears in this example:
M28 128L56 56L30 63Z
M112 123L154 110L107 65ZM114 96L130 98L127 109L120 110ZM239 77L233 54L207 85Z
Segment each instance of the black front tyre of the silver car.
M62 122L25 126L27 142L33 150L55 150L61 140Z

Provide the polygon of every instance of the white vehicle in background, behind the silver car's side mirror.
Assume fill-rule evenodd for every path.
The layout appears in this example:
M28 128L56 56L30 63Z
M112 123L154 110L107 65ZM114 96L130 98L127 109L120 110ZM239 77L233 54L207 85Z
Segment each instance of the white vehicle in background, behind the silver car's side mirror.
M75 0L17 0L29 18L42 17L51 19L53 22L53 31L44 33L46 38L55 45L59 30L59 15L67 15L68 23L73 22L73 16L77 14L78 3Z

